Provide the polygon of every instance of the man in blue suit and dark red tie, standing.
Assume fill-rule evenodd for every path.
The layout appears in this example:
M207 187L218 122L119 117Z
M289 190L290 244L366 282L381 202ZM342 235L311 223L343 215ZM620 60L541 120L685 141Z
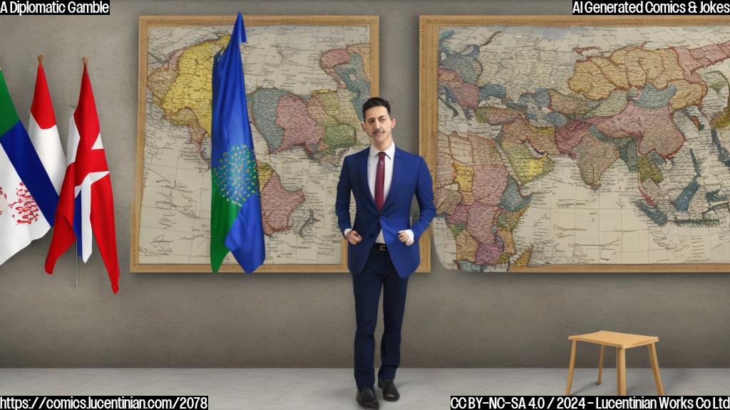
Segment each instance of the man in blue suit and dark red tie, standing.
M374 331L377 305L383 288L385 328L380 341L377 385L386 401L400 397L393 379L400 364L401 324L408 276L420 263L418 239L434 219L434 192L426 161L396 147L391 131L396 120L391 105L373 97L363 104L362 127L370 147L345 157L337 184L335 209L339 229L349 242L347 266L355 293L355 382L357 402L379 409L374 391ZM356 203L355 224L350 223L350 192ZM415 196L420 217L411 225Z

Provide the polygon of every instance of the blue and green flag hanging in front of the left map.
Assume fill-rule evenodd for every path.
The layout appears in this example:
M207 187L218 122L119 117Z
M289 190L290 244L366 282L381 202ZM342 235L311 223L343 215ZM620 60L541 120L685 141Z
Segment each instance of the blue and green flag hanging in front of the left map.
M210 266L217 272L231 252L250 274L264 263L266 252L241 42L246 31L238 13L228 47L213 59Z

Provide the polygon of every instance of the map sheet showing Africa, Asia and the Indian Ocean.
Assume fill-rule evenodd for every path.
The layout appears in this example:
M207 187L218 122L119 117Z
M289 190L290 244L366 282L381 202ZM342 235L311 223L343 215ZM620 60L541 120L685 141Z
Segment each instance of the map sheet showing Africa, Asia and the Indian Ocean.
M439 30L447 268L730 263L730 28Z

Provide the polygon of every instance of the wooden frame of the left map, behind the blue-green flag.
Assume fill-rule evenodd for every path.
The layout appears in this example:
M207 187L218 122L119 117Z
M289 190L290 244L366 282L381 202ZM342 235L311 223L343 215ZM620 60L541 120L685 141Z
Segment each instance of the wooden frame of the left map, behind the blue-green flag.
M378 16L354 15L312 15L312 16L281 16L281 15L246 15L246 26L368 26L370 30L370 69L371 93L376 96L379 92L379 18ZM157 27L196 27L196 26L231 26L236 20L235 15L225 16L140 16L139 17L139 84L137 103L137 163L134 175L134 199L131 209L131 252L130 270L132 272L210 272L210 265L204 264L169 264L169 263L139 263L139 224L142 212L142 170L145 160L145 116L147 103L147 41L150 28ZM334 196L334 192L332 193ZM334 208L332 209L334 213ZM425 235L424 235L425 236ZM421 244L430 244L422 238ZM342 260L339 264L266 264L256 272L347 272L347 242L342 240ZM430 247L429 247L430 251ZM423 251L422 251L423 253ZM428 255L427 255L428 256ZM419 271L430 270L430 261L422 263ZM224 264L222 272L242 272L237 264Z

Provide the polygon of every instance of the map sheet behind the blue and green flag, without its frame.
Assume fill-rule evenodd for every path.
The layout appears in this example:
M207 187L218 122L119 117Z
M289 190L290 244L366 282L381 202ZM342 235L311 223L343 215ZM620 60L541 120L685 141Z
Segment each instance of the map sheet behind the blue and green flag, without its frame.
M334 191L365 147L367 26L248 26L241 51L266 263L339 264ZM150 28L139 263L210 263L212 58L230 26ZM235 263L228 255L226 263Z

